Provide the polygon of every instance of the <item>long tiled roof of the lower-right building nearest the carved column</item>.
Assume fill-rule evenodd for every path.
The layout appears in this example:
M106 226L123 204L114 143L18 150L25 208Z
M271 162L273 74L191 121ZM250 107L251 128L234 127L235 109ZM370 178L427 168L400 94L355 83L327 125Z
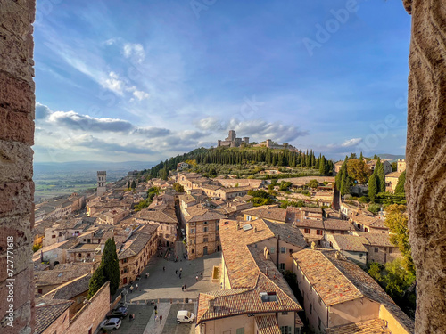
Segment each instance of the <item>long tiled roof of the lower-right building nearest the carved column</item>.
M368 297L384 306L407 331L414 332L414 322L384 289L358 265L343 256L336 258L334 250L303 249L293 257L327 306Z

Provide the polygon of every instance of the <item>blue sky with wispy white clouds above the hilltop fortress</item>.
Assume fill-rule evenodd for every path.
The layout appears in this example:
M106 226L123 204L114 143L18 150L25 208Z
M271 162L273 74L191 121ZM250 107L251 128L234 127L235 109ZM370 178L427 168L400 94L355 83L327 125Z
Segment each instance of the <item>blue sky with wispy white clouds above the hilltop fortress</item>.
M401 0L37 2L37 162L157 161L229 129L404 154Z

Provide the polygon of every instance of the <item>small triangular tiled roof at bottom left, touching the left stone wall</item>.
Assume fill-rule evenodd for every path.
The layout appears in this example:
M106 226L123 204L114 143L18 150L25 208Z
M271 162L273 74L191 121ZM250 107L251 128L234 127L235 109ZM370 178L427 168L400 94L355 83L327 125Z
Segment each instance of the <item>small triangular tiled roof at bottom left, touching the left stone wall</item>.
M44 332L53 322L57 320L74 302L61 299L36 300L36 328L35 334ZM67 319L69 321L69 319Z

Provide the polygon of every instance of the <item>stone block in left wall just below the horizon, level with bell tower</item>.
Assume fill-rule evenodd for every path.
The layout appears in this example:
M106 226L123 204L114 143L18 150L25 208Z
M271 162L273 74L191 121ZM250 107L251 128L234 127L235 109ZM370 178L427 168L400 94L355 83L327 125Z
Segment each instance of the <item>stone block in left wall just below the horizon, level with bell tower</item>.
M0 217L30 215L34 183L0 183Z

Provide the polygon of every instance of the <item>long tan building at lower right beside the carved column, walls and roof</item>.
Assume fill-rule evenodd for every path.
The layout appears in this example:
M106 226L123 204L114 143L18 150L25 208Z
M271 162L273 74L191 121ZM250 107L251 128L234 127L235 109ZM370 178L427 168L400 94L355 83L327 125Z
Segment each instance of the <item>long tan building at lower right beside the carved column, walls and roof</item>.
M293 253L293 263L305 316L315 332L414 332L414 322L384 289L335 250L303 249Z

